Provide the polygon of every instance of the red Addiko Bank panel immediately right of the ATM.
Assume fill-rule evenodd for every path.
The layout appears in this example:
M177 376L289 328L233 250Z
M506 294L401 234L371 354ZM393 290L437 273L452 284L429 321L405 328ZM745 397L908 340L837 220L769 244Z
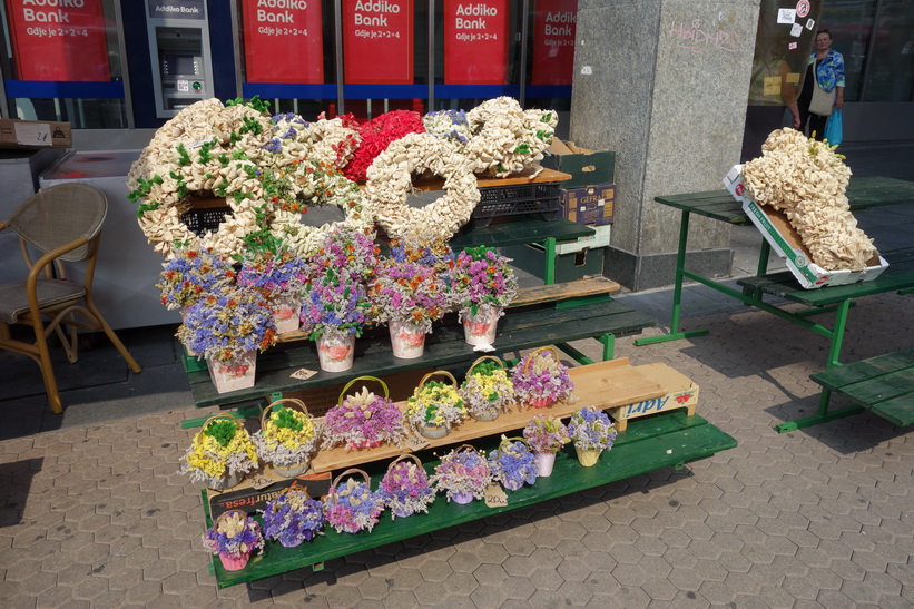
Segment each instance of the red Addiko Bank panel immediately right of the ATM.
M321 0L244 0L245 79L323 82Z

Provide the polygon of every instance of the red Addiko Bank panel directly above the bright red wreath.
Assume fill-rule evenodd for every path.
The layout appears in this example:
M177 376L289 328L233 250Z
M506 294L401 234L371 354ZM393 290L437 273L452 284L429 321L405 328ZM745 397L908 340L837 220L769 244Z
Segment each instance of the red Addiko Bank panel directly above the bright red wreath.
M413 84L413 0L343 0L347 84Z

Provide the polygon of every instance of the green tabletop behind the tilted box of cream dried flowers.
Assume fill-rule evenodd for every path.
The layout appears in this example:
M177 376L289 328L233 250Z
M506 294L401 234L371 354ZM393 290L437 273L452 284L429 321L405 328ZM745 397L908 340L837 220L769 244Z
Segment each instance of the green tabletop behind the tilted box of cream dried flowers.
M914 203L914 181L878 176L851 178L845 194L852 212L884 205ZM727 190L664 195L655 197L655 200L728 224L749 224L748 216L743 212L743 204L734 199Z

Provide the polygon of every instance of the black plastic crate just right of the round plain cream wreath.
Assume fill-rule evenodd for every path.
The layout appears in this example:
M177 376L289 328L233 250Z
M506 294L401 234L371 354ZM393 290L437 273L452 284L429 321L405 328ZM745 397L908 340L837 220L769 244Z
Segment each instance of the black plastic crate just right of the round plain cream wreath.
M481 199L473 209L476 226L488 226L492 218L537 214L543 219L559 218L560 191L558 181L488 186L479 189Z

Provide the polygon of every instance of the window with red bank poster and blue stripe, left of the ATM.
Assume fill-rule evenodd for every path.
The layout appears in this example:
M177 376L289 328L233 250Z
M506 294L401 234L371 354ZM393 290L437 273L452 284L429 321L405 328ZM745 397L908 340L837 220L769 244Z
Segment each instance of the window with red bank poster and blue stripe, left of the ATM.
M4 3L0 72L12 118L127 127L114 2Z

